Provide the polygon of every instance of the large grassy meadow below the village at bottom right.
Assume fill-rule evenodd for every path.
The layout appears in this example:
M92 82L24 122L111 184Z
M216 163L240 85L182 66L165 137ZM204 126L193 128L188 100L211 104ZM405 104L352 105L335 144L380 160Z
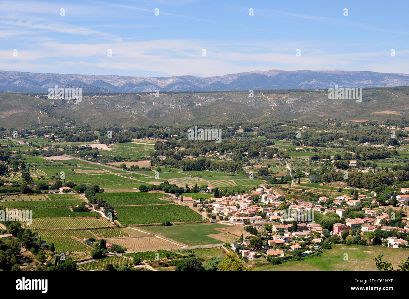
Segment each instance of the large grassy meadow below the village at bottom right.
M303 261L285 261L280 265L256 264L258 270L378 270L373 260L378 255L384 255L383 261L393 266L402 264L409 257L409 250L402 248L387 248L385 246L346 246L333 244L333 249L324 250L320 257L305 257ZM344 260L344 254L348 254L348 260Z

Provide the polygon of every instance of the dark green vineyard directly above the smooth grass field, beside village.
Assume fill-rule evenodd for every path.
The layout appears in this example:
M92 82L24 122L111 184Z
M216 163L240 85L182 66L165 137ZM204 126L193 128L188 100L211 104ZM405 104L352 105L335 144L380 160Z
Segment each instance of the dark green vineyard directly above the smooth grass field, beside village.
M188 206L176 204L154 206L117 206L116 217L121 224L151 224L170 222L202 221L202 215Z

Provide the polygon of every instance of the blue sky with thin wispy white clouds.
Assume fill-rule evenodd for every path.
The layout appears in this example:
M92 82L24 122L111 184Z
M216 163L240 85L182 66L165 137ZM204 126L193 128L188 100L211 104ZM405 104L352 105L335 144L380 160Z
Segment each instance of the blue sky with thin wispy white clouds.
M0 0L0 70L409 73L408 8L407 0Z

